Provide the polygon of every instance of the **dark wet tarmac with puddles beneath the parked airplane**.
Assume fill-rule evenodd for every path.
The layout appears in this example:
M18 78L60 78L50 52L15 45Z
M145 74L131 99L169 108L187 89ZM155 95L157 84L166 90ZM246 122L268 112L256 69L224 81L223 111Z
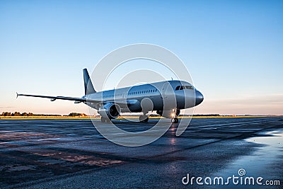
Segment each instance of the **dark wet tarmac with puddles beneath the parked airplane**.
M180 137L174 124L156 142L122 147L101 136L91 120L0 120L0 188L219 188L203 181L184 185L183 178L227 178L239 176L239 169L280 184L260 188L282 188L282 121L192 119ZM148 130L156 122L115 120L132 132Z

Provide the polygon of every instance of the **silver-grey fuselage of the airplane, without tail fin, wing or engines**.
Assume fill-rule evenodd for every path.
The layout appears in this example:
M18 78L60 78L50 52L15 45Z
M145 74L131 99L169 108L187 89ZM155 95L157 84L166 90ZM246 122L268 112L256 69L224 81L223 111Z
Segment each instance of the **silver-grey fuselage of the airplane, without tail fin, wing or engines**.
M176 90L178 86L188 87L178 88ZM100 91L85 97L94 101L130 102L125 106L121 105L122 112L141 112L141 101L144 98L149 98L152 101L153 110L192 108L200 104L203 100L202 93L186 81L161 81L152 84ZM87 102L86 104L92 108L100 108L100 105L96 103Z

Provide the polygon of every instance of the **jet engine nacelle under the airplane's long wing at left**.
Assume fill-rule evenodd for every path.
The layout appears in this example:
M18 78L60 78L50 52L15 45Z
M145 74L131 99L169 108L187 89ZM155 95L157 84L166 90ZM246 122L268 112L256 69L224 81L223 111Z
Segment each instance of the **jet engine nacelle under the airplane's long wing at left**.
M115 118L118 118L118 116L120 115L121 108L120 108L120 105L117 105L115 103L107 103L105 105L102 105L98 109L98 113L103 118L115 119Z

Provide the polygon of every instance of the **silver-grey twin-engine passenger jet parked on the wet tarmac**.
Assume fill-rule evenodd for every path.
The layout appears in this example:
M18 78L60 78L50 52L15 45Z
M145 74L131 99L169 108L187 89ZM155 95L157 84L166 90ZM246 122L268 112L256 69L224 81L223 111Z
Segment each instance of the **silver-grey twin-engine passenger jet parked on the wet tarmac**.
M83 81L85 95L81 98L16 94L17 98L31 96L50 98L50 101L67 100L85 103L98 110L101 122L110 122L118 118L121 113L143 113L139 116L139 121L148 122L149 116L146 114L156 110L158 115L171 118L172 123L177 123L181 109L192 108L204 100L202 93L187 81L159 81L98 92L93 87L87 69L83 69Z

